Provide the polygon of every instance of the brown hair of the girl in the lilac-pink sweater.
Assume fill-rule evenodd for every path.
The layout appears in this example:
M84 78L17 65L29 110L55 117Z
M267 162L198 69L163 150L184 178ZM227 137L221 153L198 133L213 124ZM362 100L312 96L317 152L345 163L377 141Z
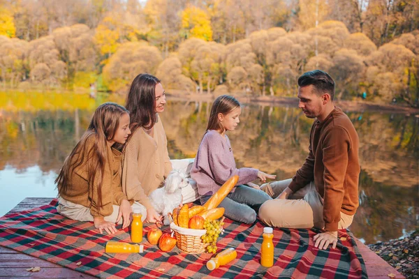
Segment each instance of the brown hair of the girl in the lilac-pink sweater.
M221 95L214 100L211 107L210 119L208 119L208 130L217 130L220 133L224 132L224 126L218 119L218 114L228 114L235 110L236 107L240 107L239 101L230 95ZM205 132L206 133L206 132Z

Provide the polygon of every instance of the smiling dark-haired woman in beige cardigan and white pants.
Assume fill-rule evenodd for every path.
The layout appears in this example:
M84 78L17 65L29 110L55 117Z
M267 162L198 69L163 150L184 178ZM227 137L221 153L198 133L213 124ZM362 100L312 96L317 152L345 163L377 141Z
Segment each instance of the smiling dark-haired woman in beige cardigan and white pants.
M189 163L189 159L180 162L176 160L179 166L172 166L170 162L166 133L159 117L159 113L164 112L165 105L165 91L157 77L149 74L135 77L126 98L132 134L126 144L122 189L128 199L134 199L145 206L145 222L148 223L161 223L162 220L148 196L163 185L172 168ZM191 182L188 187L182 188L184 202L198 199L196 184Z

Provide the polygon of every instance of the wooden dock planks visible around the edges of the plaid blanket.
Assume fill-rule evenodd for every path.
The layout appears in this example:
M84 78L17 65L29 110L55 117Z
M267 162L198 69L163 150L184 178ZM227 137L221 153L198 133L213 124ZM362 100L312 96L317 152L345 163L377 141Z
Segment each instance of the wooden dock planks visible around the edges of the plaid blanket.
M9 213L20 212L34 209L51 202L51 198L28 197L20 204L17 204ZM394 274L393 278L404 278L395 268L390 266L375 252L369 250L367 246L357 240L358 247L367 267L369 278L390 278L389 274ZM39 266L41 271L27 271L31 267ZM44 259L32 257L22 252L0 246L0 278L94 278L86 273L80 273L73 269L66 269L58 264L47 262Z

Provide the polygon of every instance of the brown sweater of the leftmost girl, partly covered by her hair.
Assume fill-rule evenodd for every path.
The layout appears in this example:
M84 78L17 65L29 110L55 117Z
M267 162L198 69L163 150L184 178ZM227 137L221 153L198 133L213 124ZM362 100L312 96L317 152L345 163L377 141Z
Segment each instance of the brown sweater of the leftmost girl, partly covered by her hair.
M94 148L95 136L87 138L85 150ZM103 183L101 185L101 205L98 197L98 176L94 179L94 184L89 181L88 168L91 162L84 160L80 167L76 167L71 173L70 185L66 193L61 197L82 206L90 207L90 213L94 217L110 216L113 211L112 204L120 205L126 195L122 192L121 186L121 160L122 153L107 145L108 156L103 172ZM73 161L77 160L78 155L73 156ZM89 166L90 165L90 166ZM131 201L131 204L133 201Z

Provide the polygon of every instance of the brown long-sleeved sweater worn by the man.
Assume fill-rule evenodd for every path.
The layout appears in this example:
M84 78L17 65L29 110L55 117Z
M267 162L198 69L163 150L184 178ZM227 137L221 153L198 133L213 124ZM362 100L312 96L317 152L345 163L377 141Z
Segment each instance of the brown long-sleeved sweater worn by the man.
M323 122L311 126L309 156L288 186L295 193L311 181L323 197L325 230L337 231L340 212L358 208L359 139L351 119L335 107Z

